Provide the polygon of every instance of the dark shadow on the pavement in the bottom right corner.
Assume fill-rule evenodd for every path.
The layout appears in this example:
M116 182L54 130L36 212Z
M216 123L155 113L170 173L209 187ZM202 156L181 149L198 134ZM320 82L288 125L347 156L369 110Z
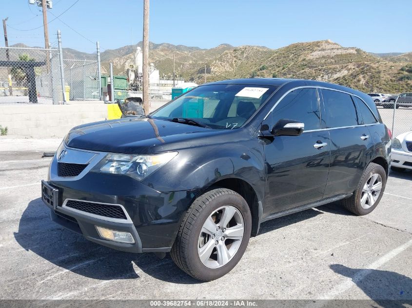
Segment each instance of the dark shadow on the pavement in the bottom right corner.
M332 264L330 268L335 273L351 278L359 289L382 307L405 308L412 304L410 277L389 271L351 269L341 264Z

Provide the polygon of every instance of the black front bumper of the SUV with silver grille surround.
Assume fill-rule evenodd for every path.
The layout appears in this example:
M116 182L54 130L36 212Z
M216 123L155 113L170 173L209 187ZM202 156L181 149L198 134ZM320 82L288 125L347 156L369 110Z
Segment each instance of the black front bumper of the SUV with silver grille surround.
M58 198L51 208L53 221L98 244L126 252L168 252L175 241L182 217L197 197L200 190L159 192L127 175L105 174L91 171L93 164L102 155L64 147L68 152L64 163L84 163L70 161L84 159L86 168L78 176L60 177L55 156L50 164L49 181L46 184L58 191ZM57 152L57 156L61 147ZM81 152L79 154L73 152ZM83 153L87 152L87 153ZM161 172L159 170L158 172ZM43 194L43 192L42 192ZM68 200L97 204L116 205L123 209L127 219L102 217L82 210L73 210L66 205ZM129 232L135 244L118 243L102 239L95 226Z

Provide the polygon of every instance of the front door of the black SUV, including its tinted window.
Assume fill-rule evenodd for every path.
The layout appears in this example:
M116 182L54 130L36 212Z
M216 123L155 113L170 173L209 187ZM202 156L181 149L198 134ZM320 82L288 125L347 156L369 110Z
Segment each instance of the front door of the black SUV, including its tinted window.
M328 179L329 132L320 130L316 88L287 94L270 115L271 127L280 119L304 123L300 136L276 136L264 144L266 160L263 217L322 199ZM319 145L324 146L319 146Z

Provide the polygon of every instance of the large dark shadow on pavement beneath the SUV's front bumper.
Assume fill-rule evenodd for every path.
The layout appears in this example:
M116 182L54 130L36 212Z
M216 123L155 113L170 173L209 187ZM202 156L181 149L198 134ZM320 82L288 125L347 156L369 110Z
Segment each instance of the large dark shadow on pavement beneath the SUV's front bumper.
M179 284L199 283L182 272L170 256L131 254L106 248L66 230L50 220L50 211L40 198L29 202L20 222L16 241L49 262L79 275L99 279L136 279L145 274ZM53 278L46 277L46 279Z

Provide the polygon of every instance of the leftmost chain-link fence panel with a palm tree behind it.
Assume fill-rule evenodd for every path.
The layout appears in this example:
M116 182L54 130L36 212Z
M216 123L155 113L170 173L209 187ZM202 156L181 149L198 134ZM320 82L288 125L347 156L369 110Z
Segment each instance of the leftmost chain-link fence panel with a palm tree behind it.
M0 47L0 103L61 101L58 70L57 49Z

